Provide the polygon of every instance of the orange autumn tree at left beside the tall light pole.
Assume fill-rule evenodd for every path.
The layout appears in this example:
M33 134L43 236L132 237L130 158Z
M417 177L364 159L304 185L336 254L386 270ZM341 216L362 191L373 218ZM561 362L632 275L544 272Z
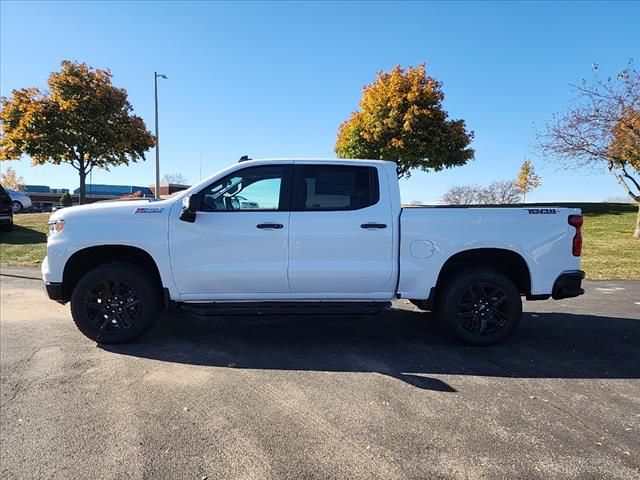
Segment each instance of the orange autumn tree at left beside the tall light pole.
M33 165L71 165L80 177L80 203L94 168L144 160L155 139L111 78L109 70L64 60L49 75L47 91L23 88L2 98L0 160L28 155Z

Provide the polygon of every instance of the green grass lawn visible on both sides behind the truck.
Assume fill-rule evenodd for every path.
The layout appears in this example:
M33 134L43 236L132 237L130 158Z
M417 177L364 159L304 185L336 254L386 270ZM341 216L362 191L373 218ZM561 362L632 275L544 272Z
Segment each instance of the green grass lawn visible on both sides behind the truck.
M585 215L582 269L587 272L587 278L640 279L640 240L631 236L637 207L602 203L571 205L582 208ZM0 263L39 265L46 252L48 218L48 213L16 215L13 232L0 233Z

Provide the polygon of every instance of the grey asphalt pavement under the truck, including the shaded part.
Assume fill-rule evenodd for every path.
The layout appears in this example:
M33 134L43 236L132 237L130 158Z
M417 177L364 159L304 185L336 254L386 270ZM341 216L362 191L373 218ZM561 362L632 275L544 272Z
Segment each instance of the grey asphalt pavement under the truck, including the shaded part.
M491 348L404 302L101 348L34 276L0 276L3 479L640 478L640 282L529 303Z

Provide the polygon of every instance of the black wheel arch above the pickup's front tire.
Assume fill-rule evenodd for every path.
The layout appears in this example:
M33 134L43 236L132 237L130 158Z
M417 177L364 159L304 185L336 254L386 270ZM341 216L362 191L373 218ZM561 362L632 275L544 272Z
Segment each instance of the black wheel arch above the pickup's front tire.
M65 301L71 298L73 289L85 273L100 265L113 262L127 262L141 266L151 273L158 288L162 289L160 270L149 252L130 245L98 245L78 250L65 263L62 274Z

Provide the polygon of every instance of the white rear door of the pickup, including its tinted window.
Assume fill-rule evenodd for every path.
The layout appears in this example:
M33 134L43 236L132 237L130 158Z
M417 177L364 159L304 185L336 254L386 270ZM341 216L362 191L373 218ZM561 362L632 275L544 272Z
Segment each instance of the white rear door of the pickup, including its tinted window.
M296 162L289 227L291 293L299 298L389 298L395 288L393 260L385 170Z

